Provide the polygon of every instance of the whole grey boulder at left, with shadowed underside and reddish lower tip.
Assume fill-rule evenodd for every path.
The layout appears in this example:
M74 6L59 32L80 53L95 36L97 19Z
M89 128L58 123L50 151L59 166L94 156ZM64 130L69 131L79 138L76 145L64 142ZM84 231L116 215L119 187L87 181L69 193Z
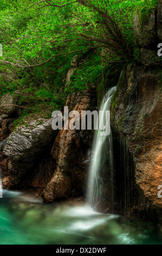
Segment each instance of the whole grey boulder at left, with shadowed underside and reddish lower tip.
M51 120L29 120L11 133L3 149L12 166L10 176L3 181L4 188L17 186L24 175L43 160L56 133L51 127Z

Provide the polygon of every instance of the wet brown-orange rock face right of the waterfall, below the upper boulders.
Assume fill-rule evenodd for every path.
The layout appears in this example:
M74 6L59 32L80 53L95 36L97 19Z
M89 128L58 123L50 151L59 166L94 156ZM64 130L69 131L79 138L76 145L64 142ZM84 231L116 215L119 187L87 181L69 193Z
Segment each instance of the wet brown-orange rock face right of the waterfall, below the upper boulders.
M135 184L141 190L134 207L137 204L140 210L142 205L147 211L153 206L160 219L162 205L157 193L162 180L161 81L158 71L153 71L127 66L113 99L111 118L114 133L126 141L133 157Z

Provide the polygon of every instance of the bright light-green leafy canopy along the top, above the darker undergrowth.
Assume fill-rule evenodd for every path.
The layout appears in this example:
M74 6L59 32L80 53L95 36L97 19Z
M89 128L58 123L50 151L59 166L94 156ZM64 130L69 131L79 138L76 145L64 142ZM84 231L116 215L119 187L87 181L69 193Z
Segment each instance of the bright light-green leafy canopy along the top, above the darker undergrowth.
M28 63L40 63L55 53L92 46L86 38L80 36L80 33L90 38L102 38L103 29L100 23L104 17L101 16L100 11L105 11L112 17L119 26L126 45L132 47L132 18L136 9L141 9L142 12L157 5L157 0L92 0L87 7L68 0L64 1L65 4L67 3L65 7L58 9L53 5L45 5L43 1L40 4L36 4L37 2L40 1L34 1L35 5L33 5L34 3L28 3L27 0L22 2L9 0L7 3L0 0L2 6L0 9L0 42L3 44L4 60L15 63L14 56L14 59L21 60L24 66ZM50 2L51 4L57 3L55 0ZM106 35L111 31L104 33ZM94 43L96 44L95 40ZM116 48L117 52L121 54L118 48ZM55 59L51 64L54 63Z

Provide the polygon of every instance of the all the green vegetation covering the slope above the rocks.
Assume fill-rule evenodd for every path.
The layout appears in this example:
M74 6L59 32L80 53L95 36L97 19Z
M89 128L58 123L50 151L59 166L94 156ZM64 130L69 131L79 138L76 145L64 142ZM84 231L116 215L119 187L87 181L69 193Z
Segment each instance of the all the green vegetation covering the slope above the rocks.
M0 0L1 96L18 89L18 105L50 113L74 90L96 83L101 90L110 70L119 75L121 66L138 58L132 22L137 9L144 17L156 6L157 0ZM75 54L80 68L66 84Z

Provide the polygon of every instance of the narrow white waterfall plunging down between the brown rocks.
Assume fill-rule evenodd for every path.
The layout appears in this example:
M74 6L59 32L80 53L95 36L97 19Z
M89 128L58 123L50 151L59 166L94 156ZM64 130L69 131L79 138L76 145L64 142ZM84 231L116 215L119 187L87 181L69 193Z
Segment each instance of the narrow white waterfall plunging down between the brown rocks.
M100 111L104 113L109 111L111 99L116 87L108 90L102 100ZM109 120L110 121L110 120ZM107 136L100 135L101 130L97 130L94 136L92 147L92 161L90 163L87 200L95 208L95 205L100 203L105 198L104 180L109 184L111 190L111 207L113 212L113 143L112 132Z

